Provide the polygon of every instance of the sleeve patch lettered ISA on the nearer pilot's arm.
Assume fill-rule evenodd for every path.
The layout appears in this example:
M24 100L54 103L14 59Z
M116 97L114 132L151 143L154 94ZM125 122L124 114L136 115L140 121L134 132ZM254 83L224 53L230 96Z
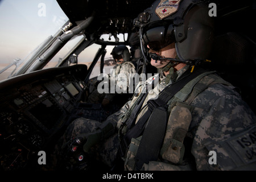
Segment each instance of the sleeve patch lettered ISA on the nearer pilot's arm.
M225 140L206 143L209 151L216 151L217 165L225 170L251 168L256 162L256 125L244 129Z

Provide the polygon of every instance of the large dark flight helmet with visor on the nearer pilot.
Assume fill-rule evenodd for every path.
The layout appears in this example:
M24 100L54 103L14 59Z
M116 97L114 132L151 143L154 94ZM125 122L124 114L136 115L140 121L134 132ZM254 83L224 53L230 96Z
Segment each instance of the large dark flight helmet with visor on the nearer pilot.
M142 51L150 61L148 47L158 51L175 42L177 59L208 59L214 23L207 3L201 0L158 0L134 20L139 27Z

